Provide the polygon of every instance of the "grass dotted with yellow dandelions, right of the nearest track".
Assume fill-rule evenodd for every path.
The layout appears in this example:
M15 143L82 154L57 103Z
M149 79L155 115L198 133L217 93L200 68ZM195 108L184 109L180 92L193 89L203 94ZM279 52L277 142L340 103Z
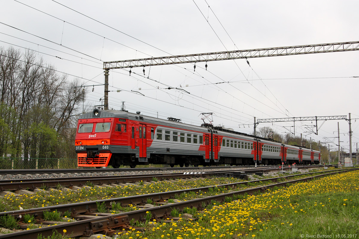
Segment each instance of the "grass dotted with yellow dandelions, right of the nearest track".
M149 230L143 233L120 234L123 239L286 239L302 238L302 234L303 238L318 234L355 238L359 233L358 181L359 171L353 171L272 188L261 195L238 195L237 201L211 201L203 211L183 210L182 214L195 214L196 221L149 221L144 225ZM171 212L173 216L182 214L177 209Z

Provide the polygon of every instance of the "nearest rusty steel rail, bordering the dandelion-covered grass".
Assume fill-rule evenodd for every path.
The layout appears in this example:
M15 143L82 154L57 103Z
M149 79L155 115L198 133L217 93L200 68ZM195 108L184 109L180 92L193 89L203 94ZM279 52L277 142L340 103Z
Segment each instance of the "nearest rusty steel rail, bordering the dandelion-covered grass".
M162 206L157 206L157 207L151 207L151 208L140 209L140 210L136 210L136 211L120 213L120 214L100 216L98 218L86 219L86 220L81 220L81 221L76 221L76 222L71 222L71 223L66 223L66 224L60 224L60 225L47 226L44 228L37 228L37 229L19 231L19 232L15 232L15 233L3 234L3 235L0 235L0 239L1 238L10 238L10 237L12 239L22 239L24 237L37 238L37 236L39 234L42 234L43 236L50 236L52 234L53 230L57 230L60 234L62 234L62 229L64 229L64 228L66 228L66 230L69 232L69 234L72 233L71 236L88 236L90 234L98 233L103 230L108 230L108 229L111 230L111 228L116 228L116 227L120 227L120 226L126 227L126 225L130 221L130 218L134 219L135 221L137 221L137 220L143 221L144 220L143 218L145 218L145 216L146 216L146 211L150 211L151 214L154 215L155 218L160 218L163 216L165 216L166 218L170 218L171 216L169 216L169 214L170 214L172 208L183 209L185 207L191 207L191 206L198 204L198 207L201 209L201 202L203 202L203 201L210 201L210 200L219 201L220 200L220 201L224 202L225 197L233 197L235 195L244 194L244 193L252 194L256 191L265 191L271 187L284 186L287 183L308 181L313 178L328 176L328 175L332 175L335 173L350 172L350 171L354 171L354 170L358 170L358 169L349 169L349 170L343 170L343 171L335 170L336 172L330 172L330 173L325 173L325 174L316 175L316 176L312 176L312 177L300 178L297 180L284 181L284 182L279 182L279 183L255 187L255 188L247 188L247 189L240 190L240 191L223 193L220 195L208 196L208 197L204 197L204 198L200 198L200 199L193 199L193 200L177 202L177 203L173 203L173 204L167 204L167 205L162 205ZM318 172L313 172L313 173L318 173ZM297 175L290 175L290 176L297 176ZM288 176L284 176L284 177L288 177ZM278 178L283 178L283 177L278 177ZM273 178L273 179L278 179L278 178ZM270 180L270 179L263 179L263 180L259 180L259 181L265 181L265 180ZM257 180L255 180L255 181L257 181ZM249 182L253 182L253 181L249 181ZM80 203L80 204L83 204L83 203ZM56 207L58 207L58 206L51 207L51 210L55 210ZM42 208L42 209L44 209L44 208ZM31 209L29 209L29 210L31 210ZM48 209L48 210L50 210L50 209ZM21 210L21 211L27 211L27 210ZM1 214L14 215L15 212L16 211L4 212Z

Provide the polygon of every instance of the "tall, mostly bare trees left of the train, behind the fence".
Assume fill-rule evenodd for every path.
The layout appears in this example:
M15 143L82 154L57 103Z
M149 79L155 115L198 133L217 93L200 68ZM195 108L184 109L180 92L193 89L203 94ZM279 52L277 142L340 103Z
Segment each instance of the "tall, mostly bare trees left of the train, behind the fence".
M81 83L32 51L0 47L0 157L76 158Z

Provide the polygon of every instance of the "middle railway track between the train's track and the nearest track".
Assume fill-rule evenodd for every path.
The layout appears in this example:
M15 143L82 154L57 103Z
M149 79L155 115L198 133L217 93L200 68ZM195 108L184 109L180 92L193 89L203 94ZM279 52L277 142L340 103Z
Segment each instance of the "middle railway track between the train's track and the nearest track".
M313 168L320 166L298 166L297 168ZM194 172L194 173L157 173L157 174L144 174L144 175L120 175L120 176L94 176L94 177L66 177L66 178L34 178L34 179L19 179L19 180L0 180L0 193L5 195L15 191L17 194L31 194L39 188L48 190L50 188L65 187L71 190L80 189L80 187L87 185L95 186L126 186L128 183L138 183L140 181L151 182L156 178L157 180L175 180L186 179L194 177L213 177L213 176L226 176L227 173L244 172L270 172L279 170L278 166L261 167L252 169L225 169L218 171L208 172Z

